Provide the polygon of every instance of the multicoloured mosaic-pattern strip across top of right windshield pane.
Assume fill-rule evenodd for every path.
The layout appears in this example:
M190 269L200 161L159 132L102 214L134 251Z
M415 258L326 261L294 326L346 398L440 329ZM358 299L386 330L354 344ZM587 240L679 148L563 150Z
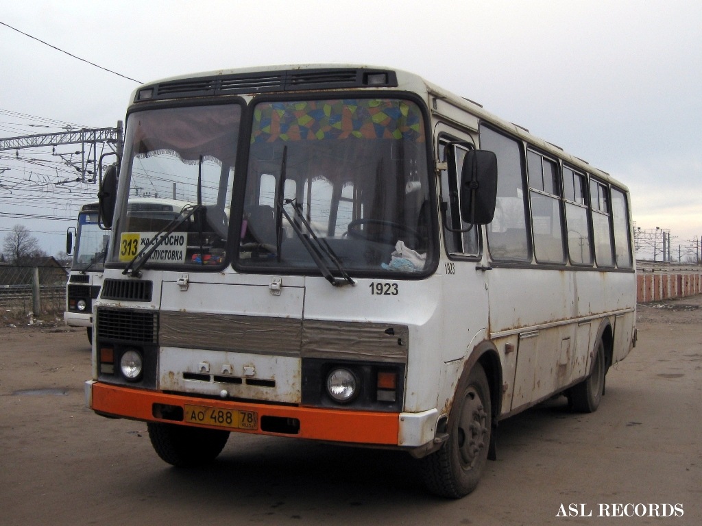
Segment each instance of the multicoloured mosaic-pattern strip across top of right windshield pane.
M253 114L252 143L354 137L424 142L422 113L406 100L343 99L262 102Z

